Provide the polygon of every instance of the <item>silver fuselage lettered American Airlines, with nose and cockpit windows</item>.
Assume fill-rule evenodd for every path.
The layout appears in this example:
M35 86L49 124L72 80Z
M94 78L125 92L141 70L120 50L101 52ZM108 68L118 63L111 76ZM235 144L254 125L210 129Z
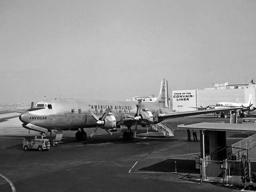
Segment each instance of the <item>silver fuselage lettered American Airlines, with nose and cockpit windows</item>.
M138 102L109 101L94 99L48 99L39 101L35 108L22 113L20 120L26 124L33 124L45 129L77 130L78 128L96 127L95 119L89 114L91 109L98 117L103 116L110 108L116 121L123 116L134 117ZM151 112L166 113L167 108L159 108L150 102L142 103L143 109ZM135 124L132 122L131 125Z

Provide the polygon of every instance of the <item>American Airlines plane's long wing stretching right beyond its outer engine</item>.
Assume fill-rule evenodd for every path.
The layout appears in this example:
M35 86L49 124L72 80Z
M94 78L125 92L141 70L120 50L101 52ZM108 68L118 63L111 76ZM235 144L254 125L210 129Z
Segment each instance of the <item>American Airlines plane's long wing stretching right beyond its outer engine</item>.
M214 112L225 112L225 111L237 110L237 109L242 109L242 107L236 107L236 108L232 107L232 108L225 108L225 109L206 109L206 110L198 110L198 111L184 111L184 112L173 112L173 113L159 113L158 118L160 118L160 120L165 120L167 118L187 117L187 116L214 113Z

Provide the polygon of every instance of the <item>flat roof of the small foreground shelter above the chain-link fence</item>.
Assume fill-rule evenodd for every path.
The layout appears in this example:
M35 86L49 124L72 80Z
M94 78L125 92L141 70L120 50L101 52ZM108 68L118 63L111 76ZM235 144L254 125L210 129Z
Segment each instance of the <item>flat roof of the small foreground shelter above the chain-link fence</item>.
M190 125L178 125L178 128L185 129L200 129L200 130L213 130L213 131L248 131L256 132L256 123L195 123Z

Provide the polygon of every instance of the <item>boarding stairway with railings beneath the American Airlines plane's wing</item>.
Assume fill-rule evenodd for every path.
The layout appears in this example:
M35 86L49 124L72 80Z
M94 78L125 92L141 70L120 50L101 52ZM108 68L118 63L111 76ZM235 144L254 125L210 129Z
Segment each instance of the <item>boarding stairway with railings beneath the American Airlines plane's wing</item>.
M154 129L154 131L153 131ZM160 122L158 124L153 124L151 126L151 130L147 129L146 133L139 133L138 136L158 136L158 137L173 137L174 134L174 129L163 122Z

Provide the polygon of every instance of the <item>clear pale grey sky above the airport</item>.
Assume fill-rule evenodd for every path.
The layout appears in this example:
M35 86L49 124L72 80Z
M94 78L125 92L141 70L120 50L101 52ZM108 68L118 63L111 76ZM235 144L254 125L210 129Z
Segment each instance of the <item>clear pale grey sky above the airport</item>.
M0 1L0 103L256 77L256 1Z

